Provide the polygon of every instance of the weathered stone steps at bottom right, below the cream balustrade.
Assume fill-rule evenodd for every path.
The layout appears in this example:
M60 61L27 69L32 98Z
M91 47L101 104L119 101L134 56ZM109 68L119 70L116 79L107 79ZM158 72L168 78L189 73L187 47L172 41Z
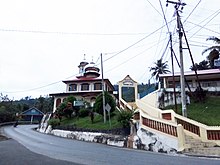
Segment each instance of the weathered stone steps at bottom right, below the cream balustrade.
M220 157L220 146L212 142L202 142L191 136L185 136L186 148L183 151L186 155Z

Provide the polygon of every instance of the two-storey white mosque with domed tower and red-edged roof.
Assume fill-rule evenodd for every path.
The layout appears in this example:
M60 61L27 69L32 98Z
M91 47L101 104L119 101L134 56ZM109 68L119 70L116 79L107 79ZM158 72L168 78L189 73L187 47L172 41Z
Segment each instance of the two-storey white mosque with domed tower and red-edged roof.
M63 81L66 84L66 92L50 94L54 97L53 112L68 96L74 96L78 103L86 101L93 107L96 97L102 93L103 87L104 91L113 95L114 86L109 79L103 79L102 83L102 78L99 78L100 69L95 66L95 63L88 63L84 59L78 68L79 74L75 78Z

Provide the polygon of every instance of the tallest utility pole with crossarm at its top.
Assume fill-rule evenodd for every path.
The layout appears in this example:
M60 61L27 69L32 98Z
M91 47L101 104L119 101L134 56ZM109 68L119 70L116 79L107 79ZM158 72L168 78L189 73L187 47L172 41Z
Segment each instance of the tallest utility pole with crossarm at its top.
M175 4L176 16L177 16L177 31L179 33L179 53L180 53L180 86L181 86L181 101L182 101L182 115L187 117L187 110L186 110L186 91L185 91L185 78L184 78L184 65L183 65L183 47L182 47L182 24L179 15L179 7L183 9L185 3L181 3L179 0L178 2L168 1L167 3Z

